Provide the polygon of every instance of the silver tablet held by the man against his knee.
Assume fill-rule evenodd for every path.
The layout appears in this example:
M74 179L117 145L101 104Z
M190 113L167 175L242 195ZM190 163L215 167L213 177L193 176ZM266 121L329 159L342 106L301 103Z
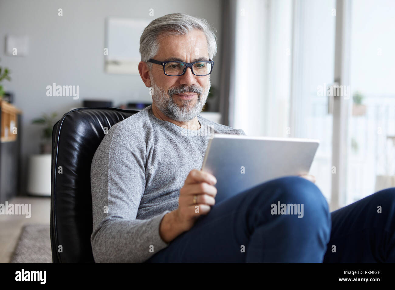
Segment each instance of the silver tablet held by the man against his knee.
M216 204L265 181L308 174L319 141L214 134L201 170L217 183Z

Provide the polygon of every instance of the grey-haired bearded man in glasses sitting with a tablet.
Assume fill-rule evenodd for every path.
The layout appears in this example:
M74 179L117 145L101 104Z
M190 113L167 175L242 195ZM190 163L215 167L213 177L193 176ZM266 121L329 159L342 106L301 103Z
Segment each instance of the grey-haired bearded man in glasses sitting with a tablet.
M92 161L96 262L395 262L394 189L329 213L314 183L286 176L215 204L215 177L199 170L209 138L245 132L199 115L214 32L165 15L140 53L152 105L111 127ZM303 204L303 218L273 214L278 202Z

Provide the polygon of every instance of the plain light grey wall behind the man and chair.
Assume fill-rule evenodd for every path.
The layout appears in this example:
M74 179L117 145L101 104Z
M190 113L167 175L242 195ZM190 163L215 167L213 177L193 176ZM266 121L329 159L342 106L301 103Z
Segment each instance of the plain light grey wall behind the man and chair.
M63 16L58 16L58 9ZM149 16L149 9L154 16ZM139 75L110 75L104 72L106 17L149 18L183 12L203 17L217 29L220 41L220 0L0 0L0 66L11 70L11 82L3 82L13 92L14 105L23 111L22 160L27 176L28 156L39 152L41 128L31 120L43 112L62 116L83 99L112 99L115 106L128 101L151 101ZM6 56L5 36L28 36L28 56ZM218 51L220 50L220 43ZM214 57L220 68L220 57ZM211 75L218 85L219 71ZM79 99L47 97L46 86L79 85ZM23 192L25 181L23 180Z

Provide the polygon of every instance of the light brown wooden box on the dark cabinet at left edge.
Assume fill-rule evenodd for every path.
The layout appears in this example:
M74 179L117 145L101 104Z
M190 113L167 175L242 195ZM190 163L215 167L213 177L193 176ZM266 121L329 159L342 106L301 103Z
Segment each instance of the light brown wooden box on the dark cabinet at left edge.
M17 115L21 114L22 111L4 100L1 100L0 107L1 107L0 108L1 109L0 142L3 143L3 142L16 141L17 134L13 134L13 129L14 127L18 128Z

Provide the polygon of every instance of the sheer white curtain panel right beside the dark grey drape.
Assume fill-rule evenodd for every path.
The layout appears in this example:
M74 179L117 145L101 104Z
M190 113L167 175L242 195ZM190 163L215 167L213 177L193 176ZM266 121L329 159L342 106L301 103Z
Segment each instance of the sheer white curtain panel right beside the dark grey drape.
M236 1L229 126L289 136L292 0Z

